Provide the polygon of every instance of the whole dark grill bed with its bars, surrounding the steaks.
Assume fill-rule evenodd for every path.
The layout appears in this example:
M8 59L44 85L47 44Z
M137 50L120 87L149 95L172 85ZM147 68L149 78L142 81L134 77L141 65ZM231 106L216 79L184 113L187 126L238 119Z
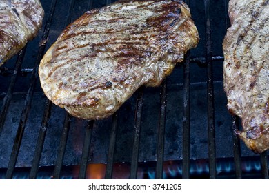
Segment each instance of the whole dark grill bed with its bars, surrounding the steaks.
M160 88L139 89L103 121L74 119L50 103L37 67L68 23L111 2L41 3L43 33L0 68L0 178L84 179L101 163L106 179L117 178L118 170L131 179L268 179L267 152L259 156L241 145L232 132L241 129L239 119L226 110L221 43L227 0L187 1L198 47Z

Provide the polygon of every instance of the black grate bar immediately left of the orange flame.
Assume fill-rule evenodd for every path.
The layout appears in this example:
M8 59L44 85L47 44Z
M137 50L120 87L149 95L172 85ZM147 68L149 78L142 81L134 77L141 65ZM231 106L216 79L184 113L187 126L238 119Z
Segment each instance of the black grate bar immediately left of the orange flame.
M94 121L88 121L88 127L86 129L85 139L83 143L82 155L81 155L81 164L79 168L79 179L86 178L86 171L88 165L88 157L90 152L90 143L92 141L92 128Z

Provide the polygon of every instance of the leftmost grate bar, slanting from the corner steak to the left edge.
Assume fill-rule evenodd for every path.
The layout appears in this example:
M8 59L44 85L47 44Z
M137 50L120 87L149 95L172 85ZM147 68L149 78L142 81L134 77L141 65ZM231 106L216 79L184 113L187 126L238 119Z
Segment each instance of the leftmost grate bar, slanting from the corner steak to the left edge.
M21 70L21 63L23 61L25 53L26 53L26 47L24 47L23 50L19 52L19 56L17 57L15 68L13 70L13 74L10 80L10 85L8 87L8 92L6 93L6 96L3 98L3 105L0 112L0 136L3 131L3 125L5 124L6 116L8 114L8 107L12 99L14 85L15 85L15 82L17 81L18 73Z

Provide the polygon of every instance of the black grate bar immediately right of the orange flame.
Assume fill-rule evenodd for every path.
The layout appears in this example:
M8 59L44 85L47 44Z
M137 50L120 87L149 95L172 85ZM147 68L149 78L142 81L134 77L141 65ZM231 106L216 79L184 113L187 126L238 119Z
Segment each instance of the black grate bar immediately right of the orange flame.
M110 132L110 143L109 143L109 148L108 148L108 163L106 165L105 179L112 179L114 151L115 151L116 136L117 136L117 124L118 124L118 113L115 112L112 115L112 130Z

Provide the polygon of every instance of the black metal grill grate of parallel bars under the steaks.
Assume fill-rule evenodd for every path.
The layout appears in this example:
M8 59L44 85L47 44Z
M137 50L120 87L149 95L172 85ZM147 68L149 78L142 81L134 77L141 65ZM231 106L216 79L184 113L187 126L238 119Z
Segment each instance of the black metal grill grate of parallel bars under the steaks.
M42 2L41 3L45 3ZM17 82L17 79L19 76L22 76L24 74L31 74L30 75L30 83L28 92L26 94L25 103L23 105L23 110L21 111L20 121L17 127L17 134L14 139L12 153L10 155L8 167L6 170L3 170L6 174L6 179L12 179L14 178L14 173L19 170L19 168L16 167L19 150L21 148L21 142L23 140L23 133L26 128L26 123L28 121L28 114L31 110L31 103L33 100L34 95L34 89L38 80L38 74L37 74L37 68L39 65L39 62L41 61L43 54L46 50L46 42L48 38L50 37L50 32L52 29L52 21L54 19L57 19L57 12L55 12L55 9L57 7L57 3L59 3L59 0L52 0L50 4L50 10L48 12L48 17L46 19L46 24L43 29L43 34L41 37L41 40L39 42L39 50L36 56L36 61L34 63L33 68L22 68L22 63L27 58L26 51L27 48L23 48L21 52L19 52L17 61L15 62L14 69L13 68L0 68L0 76L1 77L10 77L10 83L8 85L8 90L6 93L3 93L3 103L1 107L0 112L0 137L4 129L6 117L8 116L8 108L10 106L10 103L12 101L12 95L14 92L15 84ZM94 8L94 2L93 0L88 1L88 7L87 10L91 10ZM110 0L106 0L106 4L111 3ZM190 4L190 2L187 0L186 3ZM206 68L207 72L207 78L206 78L206 85L207 85L207 125L208 125L208 159L206 161L201 161L202 167L207 168L203 172L206 171L206 178L210 179L216 179L220 178L219 176L219 165L218 159L217 159L217 148L216 148L216 120L215 120L215 89L214 89L214 65L215 62L222 62L223 56L213 56L213 46L212 46L212 35L214 33L211 32L212 30L212 11L210 11L211 5L209 0L204 0L204 15L205 15L205 50L206 53L203 57L199 56L192 56L190 52L186 54L185 61L183 62L183 117L177 117L177 119L182 119L182 146L181 144L178 144L180 147L182 147L182 157L181 155L178 155L179 157L179 163L177 163L179 168L179 178L182 179L190 179L194 176L192 176L192 168L197 167L197 164L199 165L199 162L192 161L191 159L191 103L192 100L190 93L191 90L191 68L190 63L197 63L201 68ZM228 0L219 0L218 3L224 3L224 7L226 9L226 28L230 26L229 19L228 19ZM72 21L72 17L74 17L75 12L75 4L76 2L74 0L70 0L69 8L68 8L68 14L65 18L65 26L68 25ZM192 10L192 8L191 8ZM178 66L177 66L178 68ZM174 72L177 73L177 72ZM180 75L180 74L179 74ZM0 88L1 89L1 88ZM3 90L1 90L3 92ZM139 178L138 174L141 170L141 163L139 163L139 152L141 151L141 130L143 125L143 108L145 108L144 102L144 96L145 96L145 90L144 88L139 88L137 91L137 101L135 105L135 121L134 121L134 131L132 135L132 156L130 159L130 179L137 179ZM157 123L157 139L156 139L156 162L154 165L153 174L150 172L148 173L148 176L154 176L156 179L163 179L166 175L164 170L164 164L166 163L166 160L164 158L164 154L166 151L165 148L165 141L166 141L166 122L167 122L167 103L168 103L168 81L165 80L161 84L160 87L160 95L159 95L159 119ZM46 141L46 133L50 129L50 115L52 112L52 103L48 100L46 100L45 107L43 110L43 116L40 128L39 128L39 134L37 137L37 143L34 147L34 156L32 159L32 165L30 167L29 175L27 178L30 179L37 179L37 176L39 172L41 172L42 168L40 165L41 160L41 154L43 152L43 145ZM65 112L64 120L63 120L63 129L61 133L61 139L59 142L59 149L57 152L57 158L55 160L55 163L53 167L49 167L48 170L52 170L52 175L49 176L52 179L61 179L63 176L63 170L66 170L66 166L63 164L64 156L66 154L66 145L68 144L68 135L70 133L71 128L71 122L72 118L68 113ZM115 154L117 153L117 136L119 136L119 124L121 122L119 121L119 112L116 112L112 118L111 118L111 130L110 130L110 141L108 145L108 152L107 152L107 161L106 161L106 171L104 178L105 179L112 179L113 172L114 172L114 163L115 163ZM92 143L94 143L94 127L95 127L96 121L88 121L86 124L86 127L83 128L85 130L85 137L83 139L83 148L81 150L81 159L79 162L79 179L86 179L87 178L87 169L88 169L88 163L89 163L89 155L92 151ZM239 130L240 124L238 117L232 117L230 119L231 124L231 130ZM235 134L235 132L232 132L232 142L233 142L233 161L221 161L221 163L224 164L230 164L234 167L234 173L230 176L226 176L226 178L237 178L242 179L245 178L263 178L268 179L268 156L267 152L264 152L260 155L260 164L261 164L261 176L256 176L257 174L253 174L251 176L250 172L246 172L245 170L242 170L243 165L246 165L245 158L241 155L241 141ZM1 146L1 143L0 143ZM146 150L144 150L146 151ZM250 158L257 161L257 156L251 156ZM255 162L256 163L256 162ZM144 167L148 167L147 165ZM69 168L69 167L68 167ZM140 169L139 169L140 168ZM69 170L69 169L68 169ZM1 171L0 171L1 172ZM201 172L201 174L204 174ZM246 174L247 173L247 174ZM235 176L234 176L235 175ZM205 177L203 176L203 177Z

